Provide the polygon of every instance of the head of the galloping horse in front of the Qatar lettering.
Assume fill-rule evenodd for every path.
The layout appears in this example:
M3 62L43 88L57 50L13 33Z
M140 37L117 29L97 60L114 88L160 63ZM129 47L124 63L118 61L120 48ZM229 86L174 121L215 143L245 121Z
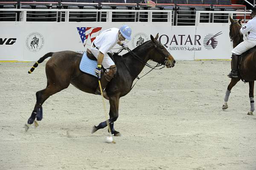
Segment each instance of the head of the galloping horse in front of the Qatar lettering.
M150 59L165 65L167 68L174 67L175 65L175 59L172 57L172 55L167 51L167 49L161 44L157 38L158 34L154 38L152 35L150 35L151 42L153 43L153 53L150 55Z

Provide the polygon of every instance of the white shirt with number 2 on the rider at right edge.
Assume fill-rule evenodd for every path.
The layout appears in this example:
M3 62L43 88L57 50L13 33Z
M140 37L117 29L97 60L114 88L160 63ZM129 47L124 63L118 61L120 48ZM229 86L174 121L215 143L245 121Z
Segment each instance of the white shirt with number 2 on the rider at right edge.
M241 29L240 32L242 34L248 34L247 39L248 40L256 40L256 17L253 17L253 19L249 20Z

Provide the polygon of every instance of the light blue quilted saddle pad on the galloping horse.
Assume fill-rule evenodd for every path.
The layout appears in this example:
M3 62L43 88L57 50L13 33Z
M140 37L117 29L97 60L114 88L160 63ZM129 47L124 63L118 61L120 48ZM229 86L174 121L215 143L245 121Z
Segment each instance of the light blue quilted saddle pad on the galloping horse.
M84 52L84 55L82 57L82 60L80 62L80 66L79 66L80 70L89 75L93 75L93 76L97 77L95 74L95 71L94 71L96 66L97 66L97 61L94 61L94 60L91 60L90 58L88 58L86 55L86 52Z

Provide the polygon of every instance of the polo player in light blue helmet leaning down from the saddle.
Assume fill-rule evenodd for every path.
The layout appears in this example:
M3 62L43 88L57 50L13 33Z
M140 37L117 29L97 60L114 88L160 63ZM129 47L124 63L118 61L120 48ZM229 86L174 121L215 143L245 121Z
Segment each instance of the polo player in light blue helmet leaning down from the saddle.
M91 45L91 52L97 58L97 67L95 68L95 73L100 78L103 95L106 99L108 98L107 93L104 91L108 82L116 74L116 65L113 60L109 57L107 52L113 48L113 46L119 44L124 49L128 49L128 46L122 43L122 41L131 40L131 28L127 25L123 25L120 29L111 28L103 31L100 35L96 37ZM106 69L106 72L101 77L102 66ZM95 91L96 95L100 95L100 88Z

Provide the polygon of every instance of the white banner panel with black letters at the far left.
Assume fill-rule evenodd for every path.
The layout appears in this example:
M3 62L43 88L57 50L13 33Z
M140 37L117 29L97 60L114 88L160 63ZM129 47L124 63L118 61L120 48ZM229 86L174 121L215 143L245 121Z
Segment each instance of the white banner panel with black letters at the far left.
M23 60L23 23L0 23L0 60Z

